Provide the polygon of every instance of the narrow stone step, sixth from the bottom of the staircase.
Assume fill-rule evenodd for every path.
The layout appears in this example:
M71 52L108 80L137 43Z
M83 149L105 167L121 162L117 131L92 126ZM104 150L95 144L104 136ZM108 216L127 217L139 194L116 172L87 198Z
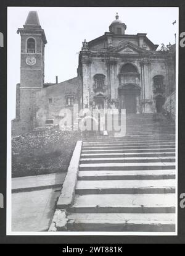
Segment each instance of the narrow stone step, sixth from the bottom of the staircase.
M80 164L93 164L93 163L173 163L175 157L162 156L162 157L118 157L118 158L81 158Z

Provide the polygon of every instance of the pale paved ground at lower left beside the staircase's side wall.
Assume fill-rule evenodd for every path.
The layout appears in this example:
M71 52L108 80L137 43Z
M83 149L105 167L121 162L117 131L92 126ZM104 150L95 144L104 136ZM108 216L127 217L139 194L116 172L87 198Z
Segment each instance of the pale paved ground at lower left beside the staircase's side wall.
M12 179L13 232L47 231L64 177L57 173Z

